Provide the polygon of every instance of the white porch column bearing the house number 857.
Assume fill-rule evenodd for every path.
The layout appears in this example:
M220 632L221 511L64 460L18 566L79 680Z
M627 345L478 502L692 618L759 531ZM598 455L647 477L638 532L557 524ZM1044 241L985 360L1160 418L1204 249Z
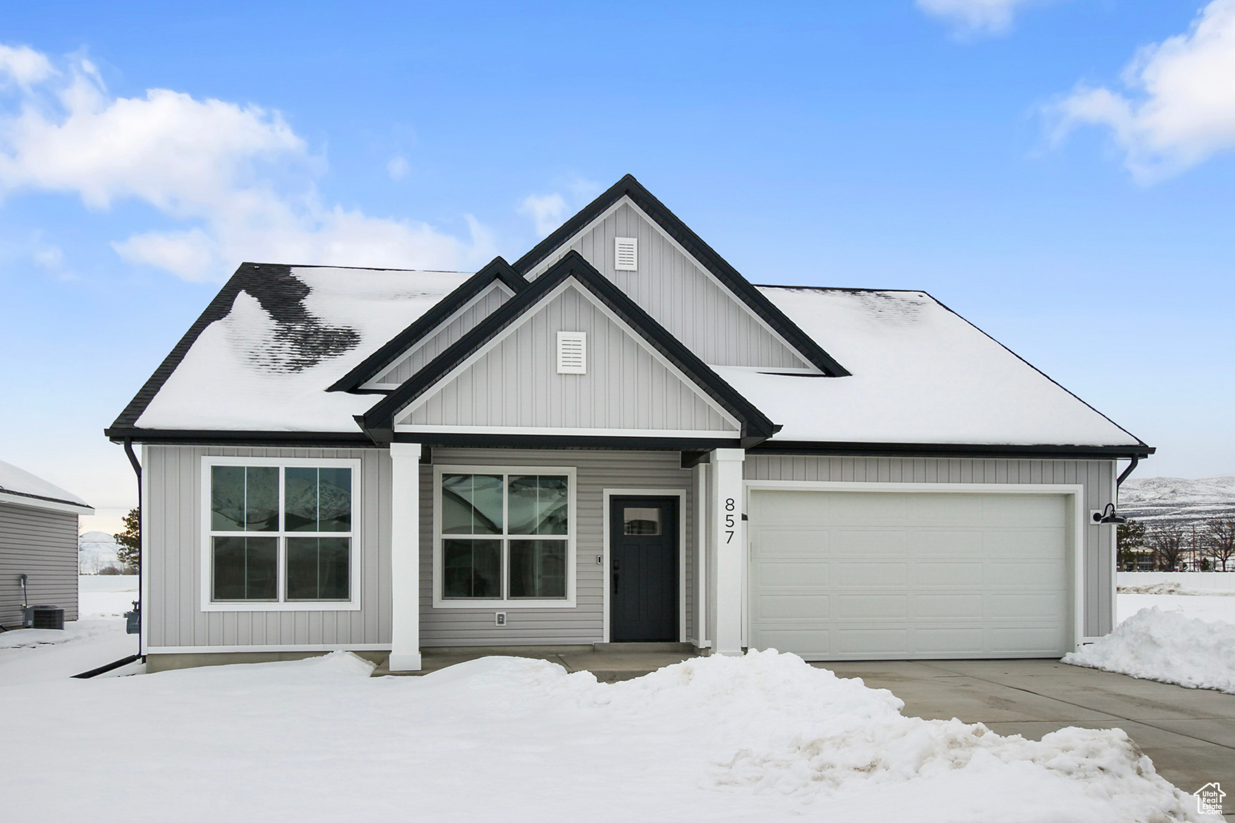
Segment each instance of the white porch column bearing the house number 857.
M746 581L746 523L742 521L743 449L716 449L711 453L711 528L708 536L713 547L709 554L715 564L713 579L716 589L713 600L715 628L713 654L742 653L742 602Z

